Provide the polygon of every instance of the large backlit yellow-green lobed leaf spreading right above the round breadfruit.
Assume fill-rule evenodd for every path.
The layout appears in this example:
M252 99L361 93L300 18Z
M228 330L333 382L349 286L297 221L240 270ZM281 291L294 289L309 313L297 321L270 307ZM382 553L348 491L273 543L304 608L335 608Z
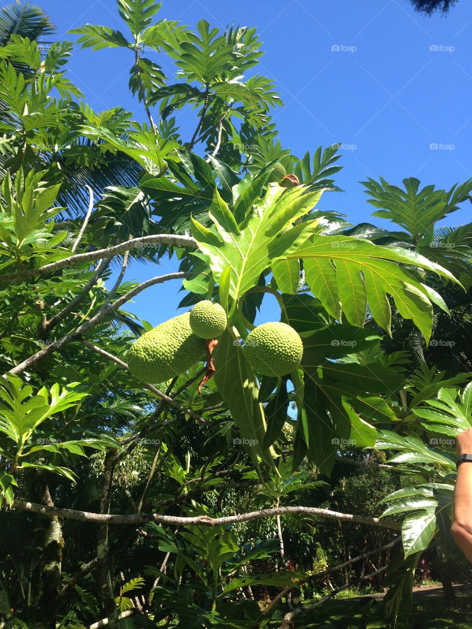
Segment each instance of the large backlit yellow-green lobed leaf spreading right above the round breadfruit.
M432 270L457 282L449 271L415 252L379 247L361 238L313 235L288 255L278 247L278 240L269 247L269 255L303 259L306 282L313 294L331 316L340 321L344 314L354 325L363 325L369 303L373 318L390 333L390 294L400 315L412 319L429 340L433 310L428 291L419 272L397 263Z

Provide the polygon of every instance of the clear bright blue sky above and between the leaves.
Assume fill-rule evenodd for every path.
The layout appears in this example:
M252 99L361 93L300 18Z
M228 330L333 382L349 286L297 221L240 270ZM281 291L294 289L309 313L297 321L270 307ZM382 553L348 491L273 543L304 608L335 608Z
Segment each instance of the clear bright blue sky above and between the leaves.
M126 32L115 0L35 1L57 26L58 39L74 40L67 31L85 23ZM337 184L346 192L327 194L320 205L347 214L352 223L369 220L373 209L358 183L366 177L381 175L401 185L415 176L424 185L448 189L472 176L467 0L447 18L421 16L408 0L164 0L159 16L193 27L201 18L222 30L228 23L257 27L266 52L258 70L276 81L284 102L275 112L281 143L300 157L320 144L344 144ZM120 105L144 120L128 92L129 55L116 48L77 48L71 79L96 111ZM156 60L172 77L169 60ZM191 133L186 114L183 128ZM469 208L452 214L447 224L471 221ZM162 272L170 269L176 264L163 261ZM135 264L126 279L141 281L159 272ZM157 325L174 316L183 296L177 289L170 283L151 288L129 309Z

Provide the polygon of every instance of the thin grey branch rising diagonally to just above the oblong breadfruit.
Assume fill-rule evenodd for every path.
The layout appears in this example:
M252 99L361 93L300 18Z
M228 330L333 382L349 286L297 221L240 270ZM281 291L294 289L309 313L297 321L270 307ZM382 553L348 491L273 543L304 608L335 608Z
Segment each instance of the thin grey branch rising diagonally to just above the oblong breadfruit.
M120 306L122 306L126 301L129 301L130 299L132 299L136 294L138 294L138 292L143 291L148 286L152 286L153 284L162 284L162 282L167 282L171 279L182 279L184 277L188 277L188 274L180 273L180 272L168 273L167 275L164 275L164 276L152 277L152 279L149 279L145 282L142 282L141 284L138 284L138 286L133 288L131 291L126 292L126 294L120 297L120 299L116 299L116 301L113 304L111 304L111 306L107 306L106 308L103 308L102 306L102 308L99 309L96 315L94 315L88 321L85 321L84 323L79 325L79 327L76 328L76 330L70 332L69 334L66 334L64 337L60 338L59 340L54 341L53 343L50 343L50 345L47 345L47 347L44 347L42 350L39 350L39 352L36 352L35 354L30 356L26 360L23 360L23 362L21 362L19 365L16 365L16 367L13 367L13 369L10 369L8 373L21 374L21 372L23 372L25 369L28 369L28 367L31 367L31 365L37 362L37 360L47 356L48 354L52 352L56 352L61 347L64 347L64 345L67 345L67 343L70 343L73 340L75 340L77 337L80 337L87 330L90 330L90 328L93 328L94 326L96 326L100 321L102 321L107 316L110 316L112 313L115 312L115 310L120 308Z

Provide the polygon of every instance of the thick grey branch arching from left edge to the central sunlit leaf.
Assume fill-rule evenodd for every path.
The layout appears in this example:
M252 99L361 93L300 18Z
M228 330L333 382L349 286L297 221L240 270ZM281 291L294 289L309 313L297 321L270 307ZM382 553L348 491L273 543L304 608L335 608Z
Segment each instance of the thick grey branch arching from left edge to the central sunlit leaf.
M113 256L118 255L119 253L125 253L125 251L146 248L149 247L149 245L157 244L176 245L176 247L189 247L192 249L197 247L197 243L194 238L189 236L180 236L178 234L154 234L152 236L142 236L140 238L127 240L126 242L122 242L114 247L97 249L96 251L87 251L85 253L76 253L76 255L71 255L69 258L45 264L39 269L25 269L17 273L6 273L3 276L0 276L0 282L14 282L28 277L38 277L40 275L53 273L61 269L69 269L69 267L81 264L82 262L92 262L94 260L101 260L102 258L113 258Z

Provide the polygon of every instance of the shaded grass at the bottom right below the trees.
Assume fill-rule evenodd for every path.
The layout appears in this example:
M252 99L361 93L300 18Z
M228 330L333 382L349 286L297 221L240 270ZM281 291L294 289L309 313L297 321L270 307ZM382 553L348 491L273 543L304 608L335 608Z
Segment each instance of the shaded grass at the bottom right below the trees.
M472 626L471 599L467 595L457 597L454 610L444 608L442 596L425 596L413 601L408 625L398 620L398 629L470 629ZM308 606L310 603L306 603ZM312 612L302 613L295 620L296 629L387 629L383 617L383 602L372 601L366 620L362 612L366 606L361 601L339 599L327 601ZM277 616L283 618L283 614ZM367 622L367 624L365 624ZM278 628L280 620L273 620L271 629Z

